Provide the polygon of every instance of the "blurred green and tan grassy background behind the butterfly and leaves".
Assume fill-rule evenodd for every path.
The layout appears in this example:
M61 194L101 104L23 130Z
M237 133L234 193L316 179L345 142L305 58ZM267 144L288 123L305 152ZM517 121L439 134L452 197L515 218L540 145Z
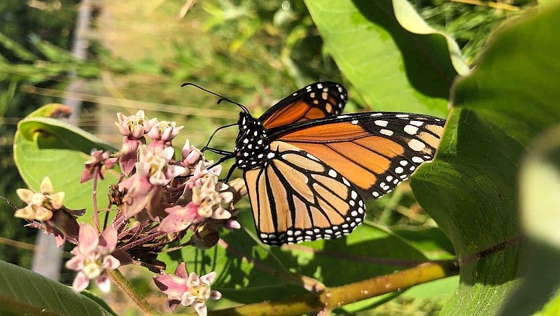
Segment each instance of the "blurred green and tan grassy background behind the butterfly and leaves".
M90 1L92 23L80 33L88 41L87 57L78 60L71 50L80 3L0 1L0 194L18 207L15 189L25 183L12 160L16 124L45 103L63 102L71 73L79 82L71 97L83 102L78 125L116 147L116 112L144 109L148 117L184 125L176 148L186 138L202 148L216 127L237 120L235 106L218 106L215 96L181 89L182 82L243 103L253 115L310 82L345 83L303 1ZM492 31L532 4L472 3L412 1L428 23L456 38L469 64ZM348 88L346 112L375 110ZM236 134L235 128L221 131L213 147L231 149ZM381 224L433 224L407 185L370 210ZM0 203L0 259L28 267L32 252L10 240L34 243L36 231L12 215L12 208ZM66 274L65 280L73 278Z

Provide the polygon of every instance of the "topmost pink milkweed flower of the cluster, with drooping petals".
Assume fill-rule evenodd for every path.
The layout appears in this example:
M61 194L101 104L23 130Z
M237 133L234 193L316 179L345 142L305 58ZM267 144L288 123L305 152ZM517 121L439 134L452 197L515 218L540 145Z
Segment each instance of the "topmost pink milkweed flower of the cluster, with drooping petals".
M117 113L117 118L118 122L115 122L115 124L118 131L125 136L118 161L123 174L131 175L137 162L137 150L140 145L146 143L144 134L148 133L158 120L155 118L146 120L143 110L139 110L135 115L130 116Z

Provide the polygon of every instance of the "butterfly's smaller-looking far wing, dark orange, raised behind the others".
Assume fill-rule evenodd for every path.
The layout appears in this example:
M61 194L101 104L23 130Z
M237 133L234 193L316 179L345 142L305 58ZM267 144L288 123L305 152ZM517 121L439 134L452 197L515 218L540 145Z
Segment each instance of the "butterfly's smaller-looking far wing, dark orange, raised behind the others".
M259 118L267 129L342 113L348 94L335 82L316 82L274 104Z

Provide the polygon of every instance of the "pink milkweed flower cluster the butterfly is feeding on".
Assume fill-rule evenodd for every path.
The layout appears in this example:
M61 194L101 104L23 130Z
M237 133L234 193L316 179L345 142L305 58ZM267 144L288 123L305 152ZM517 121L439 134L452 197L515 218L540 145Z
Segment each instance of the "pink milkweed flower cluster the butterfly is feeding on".
M207 249L218 243L220 227L239 229L234 203L246 194L244 182L219 180L221 166L205 159L189 141L181 150L181 159L174 159L172 141L183 129L175 122L148 119L142 110L130 116L118 113L117 117L123 147L112 155L92 150L80 177L81 182L95 180L96 192L97 180L104 180L106 171L118 164L122 176L109 193L116 209L94 209L92 224L86 224L87 219L80 219L80 224L78 217L85 210L66 208L64 192L55 193L52 182L45 178L41 192L18 189L27 206L16 210L15 216L26 219L30 227L55 234L59 246L65 241L76 245L66 267L78 271L73 281L77 292L91 280L107 291L107 271L139 264L159 273L154 282L167 294L170 310L193 306L197 313L206 315L206 301L221 297L210 289L216 273L188 275L181 263L175 276L167 275L165 263L157 256L165 248ZM108 223L106 217L102 224L99 215L111 212L113 221Z

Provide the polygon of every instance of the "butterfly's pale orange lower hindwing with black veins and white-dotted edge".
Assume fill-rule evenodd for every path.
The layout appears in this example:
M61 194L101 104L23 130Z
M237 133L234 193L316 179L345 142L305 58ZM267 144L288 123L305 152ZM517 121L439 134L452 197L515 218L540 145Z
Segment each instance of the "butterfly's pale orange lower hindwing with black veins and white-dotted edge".
M263 243L337 238L363 221L363 201L344 176L287 143L274 141L271 150L265 166L244 171Z

